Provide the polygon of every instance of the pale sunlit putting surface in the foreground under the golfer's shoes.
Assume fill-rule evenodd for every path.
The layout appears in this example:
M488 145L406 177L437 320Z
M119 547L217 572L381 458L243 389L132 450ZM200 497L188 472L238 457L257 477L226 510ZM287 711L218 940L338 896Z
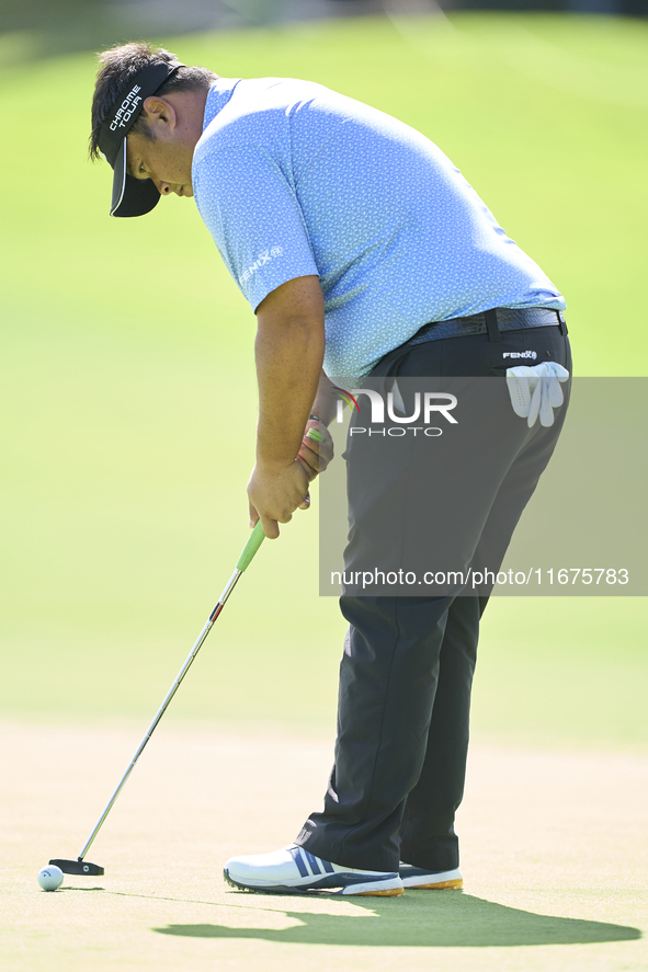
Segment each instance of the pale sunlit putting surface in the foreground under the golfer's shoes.
M78 854L133 732L0 722L0 744L11 972L646 969L646 755L477 741L458 815L463 893L250 894L225 884L224 862L291 839L320 804L330 744L162 723L89 854L105 874L67 874L47 894L38 869Z

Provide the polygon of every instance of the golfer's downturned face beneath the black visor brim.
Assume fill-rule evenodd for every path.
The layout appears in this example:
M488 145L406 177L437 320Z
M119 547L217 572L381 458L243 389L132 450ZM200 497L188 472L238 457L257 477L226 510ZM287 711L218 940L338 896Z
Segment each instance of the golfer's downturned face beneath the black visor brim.
M150 141L137 131L127 138L126 160L128 175L151 179L160 195L193 196L191 162L193 151L171 133L158 133Z

